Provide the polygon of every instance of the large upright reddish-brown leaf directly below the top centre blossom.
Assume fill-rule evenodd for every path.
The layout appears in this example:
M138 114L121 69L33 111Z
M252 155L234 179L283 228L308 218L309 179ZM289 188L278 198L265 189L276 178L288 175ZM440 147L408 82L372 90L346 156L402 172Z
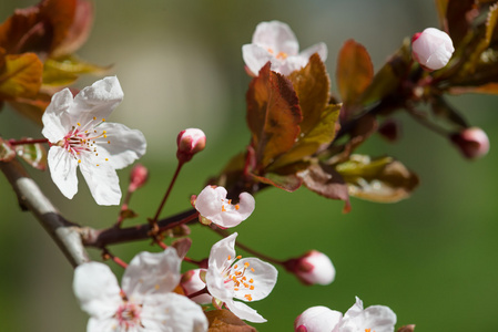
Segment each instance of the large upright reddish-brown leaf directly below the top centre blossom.
M251 82L246 100L256 168L263 169L293 147L303 116L291 81L270 71L270 62Z

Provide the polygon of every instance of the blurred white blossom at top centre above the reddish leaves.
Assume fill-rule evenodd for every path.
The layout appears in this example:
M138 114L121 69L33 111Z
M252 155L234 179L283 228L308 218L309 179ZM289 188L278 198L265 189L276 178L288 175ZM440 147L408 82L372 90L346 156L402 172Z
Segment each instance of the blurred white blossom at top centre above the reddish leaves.
M309 56L314 53L318 53L325 61L326 44L318 43L299 53L299 43L294 32L287 24L280 21L257 24L252 43L242 46L242 58L254 76L257 76L268 61L272 63L272 71L288 75L306 66Z

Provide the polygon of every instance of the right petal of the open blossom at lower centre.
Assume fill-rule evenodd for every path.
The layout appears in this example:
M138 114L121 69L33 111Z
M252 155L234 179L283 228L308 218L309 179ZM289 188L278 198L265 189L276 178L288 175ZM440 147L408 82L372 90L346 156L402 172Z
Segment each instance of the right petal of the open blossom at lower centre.
M258 258L243 258L238 260L237 266L241 268L248 263L247 269L244 272L246 280L253 280L254 282L247 282L253 286L254 289L240 287L238 291L234 292L235 298L247 301L246 294L250 294L252 301L257 301L266 298L273 290L276 283L277 270L271 263L264 262ZM254 270L254 272L253 272Z

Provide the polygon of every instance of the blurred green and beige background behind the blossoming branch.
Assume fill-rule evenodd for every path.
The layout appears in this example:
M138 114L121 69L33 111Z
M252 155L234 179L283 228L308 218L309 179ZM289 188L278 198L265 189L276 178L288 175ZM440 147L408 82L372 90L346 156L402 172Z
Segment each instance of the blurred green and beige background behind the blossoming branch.
M35 1L2 0L0 21L14 8ZM437 27L431 0L103 0L96 1L93 32L78 54L98 64L114 64L124 102L111 121L141 129L149 153L141 163L151 180L131 201L136 221L154 214L174 167L176 134L201 127L207 148L181 174L166 214L190 207L204 180L248 143L241 46L261 21L281 20L296 33L302 48L324 41L336 93L335 63L349 38L370 52L377 70L403 38ZM95 77L79 81L80 87ZM280 270L272 294L252 303L268 322L260 331L292 331L297 314L312 305L346 311L355 295L365 305L385 304L398 326L416 331L496 331L498 324L498 116L495 96L459 96L451 103L491 142L490 154L468 162L443 137L406 116L404 136L395 145L373 137L358 152L388 154L416 170L420 187L408 200L377 205L353 199L343 204L299 189L278 189L256 197L256 210L236 228L238 239L276 258L308 249L326 252L336 269L328 287L304 287ZM6 108L0 113L3 137L40 136L40 128ZM67 200L48 173L29 169L62 214L75 222L106 227L116 207L98 207L84 181ZM120 172L122 188L129 169ZM88 317L73 297L72 269L37 220L21 212L9 184L0 177L0 330L85 331ZM128 225L131 225L129 221ZM190 256L203 258L218 238L192 227ZM129 260L140 250L157 250L148 241L114 246ZM99 252L91 250L98 258ZM120 269L113 267L118 273ZM192 268L185 264L185 268Z

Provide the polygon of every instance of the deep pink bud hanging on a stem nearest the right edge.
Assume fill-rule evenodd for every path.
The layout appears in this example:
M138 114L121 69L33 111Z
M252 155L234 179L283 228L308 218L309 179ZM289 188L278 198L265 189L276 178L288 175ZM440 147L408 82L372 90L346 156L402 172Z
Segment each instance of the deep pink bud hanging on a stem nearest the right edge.
M449 138L469 159L482 157L489 151L488 135L478 127L465 128L460 133L450 135Z

